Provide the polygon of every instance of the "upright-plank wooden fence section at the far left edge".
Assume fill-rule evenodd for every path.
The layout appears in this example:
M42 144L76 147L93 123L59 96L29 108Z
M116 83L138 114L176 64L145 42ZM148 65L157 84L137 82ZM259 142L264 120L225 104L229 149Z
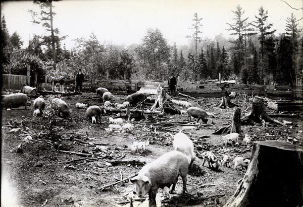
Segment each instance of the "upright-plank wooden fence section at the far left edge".
M27 82L27 76L2 74L2 89L21 90Z

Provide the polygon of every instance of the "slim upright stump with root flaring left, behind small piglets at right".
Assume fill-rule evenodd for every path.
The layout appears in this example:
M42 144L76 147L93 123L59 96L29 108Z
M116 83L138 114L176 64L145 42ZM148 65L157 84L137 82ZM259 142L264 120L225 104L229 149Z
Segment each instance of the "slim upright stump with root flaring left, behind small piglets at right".
M231 124L219 128L217 131L213 132L213 134L223 134L223 133L241 133L241 110L239 108L234 108L233 110L233 118Z

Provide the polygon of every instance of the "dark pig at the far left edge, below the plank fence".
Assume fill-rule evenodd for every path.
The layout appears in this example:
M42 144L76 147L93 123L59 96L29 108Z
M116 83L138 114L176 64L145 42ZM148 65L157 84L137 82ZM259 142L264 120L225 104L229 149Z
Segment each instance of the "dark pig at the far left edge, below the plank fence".
M9 94L5 95L2 98L2 107L3 108L11 108L11 107L19 107L19 106L25 106L27 105L27 101L30 101L29 97L23 93L17 93L17 94Z

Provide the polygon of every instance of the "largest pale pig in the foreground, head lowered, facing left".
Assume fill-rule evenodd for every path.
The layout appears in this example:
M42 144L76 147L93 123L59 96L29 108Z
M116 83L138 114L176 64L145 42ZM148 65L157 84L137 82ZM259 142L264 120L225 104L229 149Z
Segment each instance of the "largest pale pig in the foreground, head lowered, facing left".
M156 205L158 188L170 187L169 193L172 193L175 190L179 175L183 181L182 192L186 192L189 163L190 159L186 155L174 150L145 165L137 176L130 178L130 182L136 183L139 197L148 193L149 204Z

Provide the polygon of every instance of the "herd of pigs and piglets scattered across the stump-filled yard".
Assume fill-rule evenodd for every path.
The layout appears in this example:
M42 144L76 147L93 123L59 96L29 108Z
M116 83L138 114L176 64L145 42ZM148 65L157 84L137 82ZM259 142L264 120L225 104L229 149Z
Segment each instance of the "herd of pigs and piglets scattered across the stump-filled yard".
M113 95L105 88L98 88L96 94L103 99L103 106L99 107L97 105L89 106L86 110L86 116L92 123L97 123L98 120L101 122L100 117L106 113L105 107L115 106L117 108L128 108L131 105L143 102L147 95L144 93L136 92L127 96L124 103L111 103ZM30 102L27 95L23 93L16 93L6 95L2 98L2 107L10 110L11 107L27 106L27 102ZM58 98L52 100L53 103L57 104L59 114L64 116L69 115L72 110L68 104ZM34 100L33 103L34 112L33 116L41 116L42 111L45 109L45 101L43 98L38 97ZM208 113L203 109L198 107L190 106L187 108L186 113L188 115L187 119L196 118L197 122L201 119L204 123L207 123L209 120ZM132 122L132 121L130 121ZM106 128L108 133L112 133L115 130L124 130L131 132L132 124L126 123L123 125L122 118L109 118L109 126ZM169 193L172 193L175 190L178 177L181 176L183 181L183 192L186 191L186 181L187 181L187 172L191 170L192 163L201 162L199 158L195 156L194 146L189 137L182 132L184 129L189 129L190 127L184 126L180 132L174 135L173 148L174 150L164 155L160 156L155 161L145 165L138 173L137 176L130 179L131 183L136 183L136 192L139 197L144 196L148 193L149 202L154 205L156 204L156 194L158 188L164 188L165 186L169 187ZM224 138L224 145L238 146L239 145L239 136L238 133L230 133ZM243 143L249 143L250 137L245 134ZM148 142L134 142L131 146L132 152L141 153L145 151L145 148L148 146ZM209 163L211 169L217 170L219 166L230 167L230 155L226 154L223 156L221 162L216 157L216 155L210 151L205 151L202 154L203 157L203 166L206 161ZM246 158L236 157L234 160L234 168L241 167L247 170L247 166L250 161Z

